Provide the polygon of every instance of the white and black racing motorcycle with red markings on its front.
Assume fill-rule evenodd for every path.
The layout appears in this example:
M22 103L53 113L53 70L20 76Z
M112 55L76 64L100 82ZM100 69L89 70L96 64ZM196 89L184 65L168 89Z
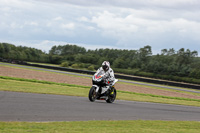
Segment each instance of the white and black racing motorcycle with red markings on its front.
M118 81L115 79L112 83L105 82L105 73L99 72L93 75L92 87L89 91L88 98L91 102L95 100L105 100L107 103L113 103L115 101L117 91L114 84Z

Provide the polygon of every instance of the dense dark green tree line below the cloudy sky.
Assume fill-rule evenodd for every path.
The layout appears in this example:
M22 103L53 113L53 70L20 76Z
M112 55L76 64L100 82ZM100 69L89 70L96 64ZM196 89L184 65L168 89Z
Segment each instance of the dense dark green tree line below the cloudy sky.
M86 50L84 47L67 44L53 46L47 54L35 48L0 43L0 57L90 70L98 69L107 60L118 73L200 83L198 52L184 48L178 51L173 48L163 49L160 54L152 55L149 45L138 50Z

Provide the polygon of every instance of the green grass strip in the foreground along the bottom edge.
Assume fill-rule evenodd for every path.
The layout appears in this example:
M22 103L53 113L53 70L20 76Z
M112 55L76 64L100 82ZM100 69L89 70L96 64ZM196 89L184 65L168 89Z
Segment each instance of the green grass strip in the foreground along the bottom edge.
M1 133L199 133L194 121L0 122Z

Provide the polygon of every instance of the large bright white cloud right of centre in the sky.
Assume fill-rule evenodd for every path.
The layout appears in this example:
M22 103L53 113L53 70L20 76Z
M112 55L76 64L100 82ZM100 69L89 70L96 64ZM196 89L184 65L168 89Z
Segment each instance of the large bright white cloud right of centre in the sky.
M120 14L118 12L118 14ZM103 11L94 16L91 22L102 30L102 34L121 38L124 35L131 36L137 33L167 34L174 32L177 36L196 38L200 33L200 22L186 18L166 17L164 12L158 13L149 10L128 10L128 15L116 15L109 11ZM109 34L107 34L109 33ZM193 36L190 36L190 35Z

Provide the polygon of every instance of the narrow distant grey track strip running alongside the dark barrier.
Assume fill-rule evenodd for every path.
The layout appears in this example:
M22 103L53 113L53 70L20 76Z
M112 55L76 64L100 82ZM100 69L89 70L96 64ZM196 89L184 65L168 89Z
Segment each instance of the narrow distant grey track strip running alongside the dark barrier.
M66 71L58 71L58 70L51 70L51 69L44 69L44 68L37 68L37 67L30 67L30 66L23 66L23 65L15 65L15 64L8 64L8 63L2 63L2 62L0 62L0 64L9 65L9 66L17 66L17 67L22 67L22 68L35 69L35 70L56 72L56 73L62 73L62 74L71 74L71 75L77 75L77 76L83 76L83 77L92 77L91 75L80 74L80 73L72 73L72 72L66 72ZM142 82L136 82L136 81L128 81L128 80L121 80L121 79L119 80L119 82L139 84L139 85L147 85L147 86L160 87L160 88L166 88L166 89L172 89L172 90L179 90L179 91L186 91L186 92L193 92L193 93L200 93L200 91L196 91L195 89L183 89L183 88L177 88L177 87L172 87L172 86L163 86L163 85L156 85L156 84L148 84L148 83L142 83Z

